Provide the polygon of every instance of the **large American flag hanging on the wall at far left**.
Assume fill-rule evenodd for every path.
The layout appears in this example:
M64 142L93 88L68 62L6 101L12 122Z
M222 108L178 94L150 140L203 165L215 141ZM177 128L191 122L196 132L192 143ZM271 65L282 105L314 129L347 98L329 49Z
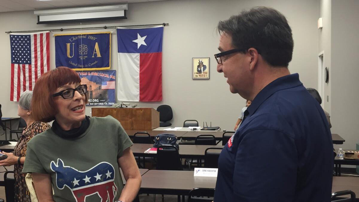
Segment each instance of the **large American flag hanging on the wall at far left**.
M50 32L10 34L10 100L19 101L26 90L32 91L37 79L50 70Z

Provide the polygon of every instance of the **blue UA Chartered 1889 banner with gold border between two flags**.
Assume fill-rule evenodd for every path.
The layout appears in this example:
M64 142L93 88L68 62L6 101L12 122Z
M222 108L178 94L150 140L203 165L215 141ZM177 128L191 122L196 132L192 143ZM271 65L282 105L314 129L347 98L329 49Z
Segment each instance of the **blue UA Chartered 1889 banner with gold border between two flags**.
M105 70L111 64L111 33L55 35L56 67L73 70Z

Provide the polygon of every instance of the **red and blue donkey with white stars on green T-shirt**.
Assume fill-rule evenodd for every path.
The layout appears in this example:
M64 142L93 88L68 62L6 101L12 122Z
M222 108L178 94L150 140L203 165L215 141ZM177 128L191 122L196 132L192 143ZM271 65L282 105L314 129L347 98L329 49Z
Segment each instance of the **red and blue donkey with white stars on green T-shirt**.
M57 165L51 161L50 167L56 172L57 188L68 187L76 202L84 202L87 196L93 194L98 194L101 201L113 202L116 196L115 170L108 162L101 162L87 171L79 171L73 167L64 166L64 161L57 159Z

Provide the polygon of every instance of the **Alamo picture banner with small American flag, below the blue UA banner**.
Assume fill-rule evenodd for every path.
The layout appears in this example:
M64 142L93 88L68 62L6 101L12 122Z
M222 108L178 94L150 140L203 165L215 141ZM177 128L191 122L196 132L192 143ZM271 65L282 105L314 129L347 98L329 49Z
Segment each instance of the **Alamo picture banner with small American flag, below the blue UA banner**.
M115 104L116 70L77 71L81 84L87 85L86 106L112 106Z

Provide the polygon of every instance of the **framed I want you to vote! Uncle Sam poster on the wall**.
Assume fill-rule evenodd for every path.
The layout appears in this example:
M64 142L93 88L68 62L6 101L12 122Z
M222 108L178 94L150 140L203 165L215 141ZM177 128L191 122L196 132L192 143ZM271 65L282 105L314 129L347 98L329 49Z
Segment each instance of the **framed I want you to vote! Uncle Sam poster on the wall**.
M192 79L209 79L209 58L192 58Z

